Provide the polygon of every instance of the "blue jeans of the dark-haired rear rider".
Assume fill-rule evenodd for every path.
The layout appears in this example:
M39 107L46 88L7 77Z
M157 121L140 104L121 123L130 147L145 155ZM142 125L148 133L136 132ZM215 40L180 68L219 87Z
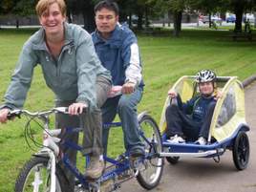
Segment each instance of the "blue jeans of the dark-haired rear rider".
M143 143L139 139L139 121L137 117L137 105L142 97L142 88L137 88L131 95L116 96L108 98L101 107L103 123L110 123L117 113L120 117L124 146L127 151L135 149L143 150ZM102 141L104 154L107 153L109 128L103 129Z

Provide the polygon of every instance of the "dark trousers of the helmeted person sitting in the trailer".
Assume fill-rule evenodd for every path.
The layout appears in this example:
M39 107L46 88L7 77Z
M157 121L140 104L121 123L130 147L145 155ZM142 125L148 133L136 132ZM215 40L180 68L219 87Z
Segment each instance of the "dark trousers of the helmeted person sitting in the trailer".
M211 118L216 102L211 102L206 110L203 122L197 122L192 117L184 114L179 106L169 105L165 112L167 122L166 136L179 135L186 140L194 141L199 137L208 138Z

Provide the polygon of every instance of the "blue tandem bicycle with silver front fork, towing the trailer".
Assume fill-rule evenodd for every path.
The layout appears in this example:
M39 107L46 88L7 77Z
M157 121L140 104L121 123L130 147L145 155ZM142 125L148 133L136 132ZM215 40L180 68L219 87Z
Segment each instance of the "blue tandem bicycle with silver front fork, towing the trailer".
M162 142L160 131L155 120L146 112L139 114L139 136L145 145L145 156L131 163L127 152L118 155L116 159L104 156L106 168L102 176L95 181L88 181L67 155L61 152L60 145L68 146L81 151L79 144L69 140L60 139L58 136L63 129L50 127L50 116L56 113L67 114L66 107L56 107L47 111L30 112L27 110L12 110L9 118L28 117L24 133L27 143L30 139L37 144L32 137L32 121L35 121L42 129L43 141L38 152L32 155L31 160L21 169L14 187L15 192L70 192L69 181L59 162L75 175L77 185L75 192L111 192L117 191L124 181L136 178L145 189L156 187L162 175L163 159L160 158ZM38 120L39 119L39 120ZM41 123L39 123L41 122ZM120 122L104 124L104 127L120 127ZM66 133L80 132L82 128L65 128ZM85 162L89 160L85 157Z

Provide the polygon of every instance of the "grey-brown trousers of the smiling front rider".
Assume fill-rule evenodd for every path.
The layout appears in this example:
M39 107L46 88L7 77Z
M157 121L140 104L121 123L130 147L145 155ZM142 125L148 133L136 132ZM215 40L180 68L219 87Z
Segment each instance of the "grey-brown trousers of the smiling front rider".
M90 113L82 114L81 116L69 116L65 114L56 114L55 126L56 128L83 128L83 150L82 154L94 154L100 155L103 153L102 146L102 118L100 107L107 99L107 94L111 89L111 83L108 79L104 77L97 77L96 79L96 101L97 108ZM56 101L55 105L57 107L68 107L74 101ZM78 133L73 133L64 136L66 140L71 140L75 143L78 142ZM73 164L76 164L76 154L72 148L63 147L61 149L71 160ZM70 181L71 188L74 191L75 187L75 176L71 173L69 169L61 164L67 179Z

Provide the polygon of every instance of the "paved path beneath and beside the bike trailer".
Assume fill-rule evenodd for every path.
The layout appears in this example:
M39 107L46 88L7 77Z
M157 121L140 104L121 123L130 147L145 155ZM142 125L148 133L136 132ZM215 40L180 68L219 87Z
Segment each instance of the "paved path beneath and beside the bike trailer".
M250 160L244 171L237 171L231 151L221 162L212 159L181 159L178 164L165 163L160 185L151 192L256 192L256 82L245 89L246 121L251 131ZM144 192L135 180L124 183L122 192Z

